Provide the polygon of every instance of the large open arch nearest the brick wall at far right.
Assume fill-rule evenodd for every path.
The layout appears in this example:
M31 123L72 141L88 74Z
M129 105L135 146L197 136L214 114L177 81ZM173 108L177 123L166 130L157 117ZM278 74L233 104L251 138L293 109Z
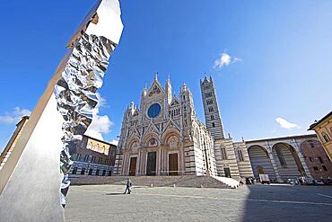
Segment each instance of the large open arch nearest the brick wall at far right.
M300 157L291 145L286 143L275 144L272 147L272 155L281 179L287 180L305 175Z

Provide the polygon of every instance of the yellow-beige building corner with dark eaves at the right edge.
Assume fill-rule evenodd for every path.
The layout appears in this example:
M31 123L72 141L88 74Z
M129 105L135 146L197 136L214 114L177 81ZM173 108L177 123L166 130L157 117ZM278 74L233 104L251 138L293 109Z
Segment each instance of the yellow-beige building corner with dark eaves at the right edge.
M328 158L332 159L332 111L319 121L315 121L310 125L308 130L315 130L319 141L323 145L328 154Z

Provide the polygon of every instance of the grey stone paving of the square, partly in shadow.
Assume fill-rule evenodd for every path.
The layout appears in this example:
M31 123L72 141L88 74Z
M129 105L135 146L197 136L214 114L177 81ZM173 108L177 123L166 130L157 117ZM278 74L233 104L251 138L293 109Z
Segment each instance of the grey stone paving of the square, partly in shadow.
M134 187L130 195L124 189L72 186L66 221L332 221L328 186Z

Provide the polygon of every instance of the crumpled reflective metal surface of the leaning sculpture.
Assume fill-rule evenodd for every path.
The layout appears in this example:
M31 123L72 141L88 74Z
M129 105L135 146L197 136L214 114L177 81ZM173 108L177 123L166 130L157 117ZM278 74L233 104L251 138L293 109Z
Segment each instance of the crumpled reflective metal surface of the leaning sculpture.
M64 119L60 153L60 169L64 175L60 194L63 207L70 185L68 172L74 164L71 157L92 123L92 110L98 103L96 92L102 85L109 57L115 47L116 44L105 37L83 33L74 44L72 55L55 86L57 111Z

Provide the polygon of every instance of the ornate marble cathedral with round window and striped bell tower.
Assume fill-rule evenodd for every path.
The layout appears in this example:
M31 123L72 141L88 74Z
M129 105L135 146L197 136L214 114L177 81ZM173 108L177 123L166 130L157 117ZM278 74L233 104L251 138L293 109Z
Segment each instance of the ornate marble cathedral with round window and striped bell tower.
M244 142L225 138L212 78L201 81L205 124L197 119L188 86L172 94L155 75L144 88L139 107L124 113L115 173L120 175L252 176Z

